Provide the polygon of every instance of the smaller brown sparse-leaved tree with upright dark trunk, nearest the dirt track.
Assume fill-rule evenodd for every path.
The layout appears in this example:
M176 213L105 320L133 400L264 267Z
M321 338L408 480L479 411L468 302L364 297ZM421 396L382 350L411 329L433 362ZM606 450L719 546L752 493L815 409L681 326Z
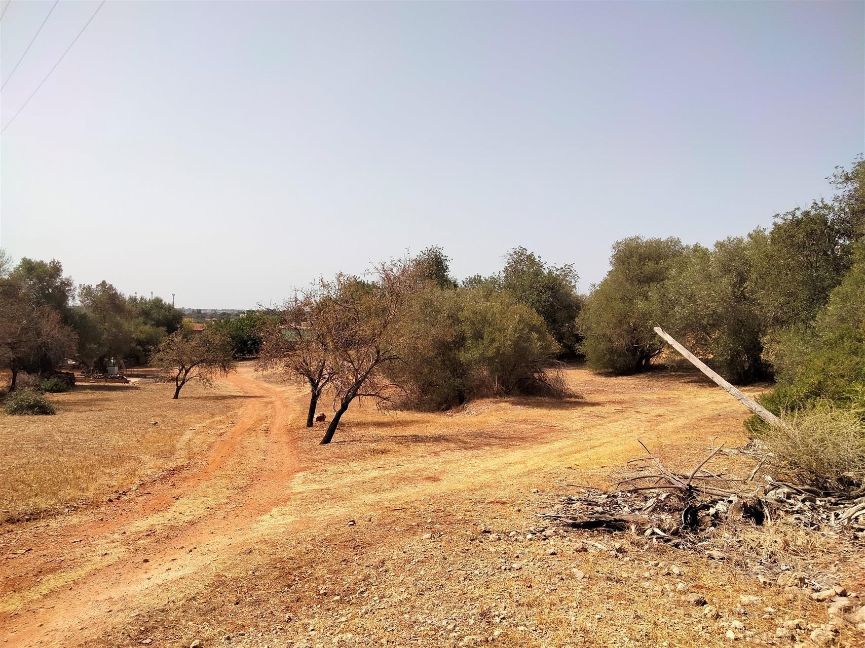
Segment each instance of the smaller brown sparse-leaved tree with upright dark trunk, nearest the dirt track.
M318 399L334 377L324 338L317 330L317 301L317 293L310 290L286 303L279 324L262 331L258 360L260 370L281 369L310 385L307 428L312 427Z

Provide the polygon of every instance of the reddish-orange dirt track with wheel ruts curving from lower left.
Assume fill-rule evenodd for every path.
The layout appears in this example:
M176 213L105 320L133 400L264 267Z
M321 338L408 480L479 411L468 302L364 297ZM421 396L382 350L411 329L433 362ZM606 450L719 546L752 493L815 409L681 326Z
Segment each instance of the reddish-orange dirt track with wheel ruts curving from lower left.
M169 475L149 494L115 505L116 518L98 518L106 511L95 510L78 524L55 520L48 542L30 530L33 537L22 542L36 550L4 565L5 645L80 642L100 617L133 607L145 590L243 550L244 530L288 499L299 468L296 439L287 432L290 392L249 371L227 378L248 399L203 467Z

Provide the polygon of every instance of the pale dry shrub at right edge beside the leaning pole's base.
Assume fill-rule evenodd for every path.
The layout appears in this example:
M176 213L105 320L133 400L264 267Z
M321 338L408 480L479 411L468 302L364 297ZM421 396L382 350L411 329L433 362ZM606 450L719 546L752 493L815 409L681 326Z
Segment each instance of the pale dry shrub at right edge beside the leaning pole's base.
M828 491L865 486L865 428L861 414L818 403L788 413L787 426L761 433L775 460L791 477Z

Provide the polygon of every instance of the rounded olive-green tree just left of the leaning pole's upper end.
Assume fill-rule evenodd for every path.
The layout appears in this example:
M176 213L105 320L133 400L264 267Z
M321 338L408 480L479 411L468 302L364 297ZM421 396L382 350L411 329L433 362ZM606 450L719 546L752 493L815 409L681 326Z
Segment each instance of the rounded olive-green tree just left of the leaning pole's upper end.
M652 292L687 251L678 238L631 237L612 246L612 268L589 295L578 320L588 365L595 370L646 370L663 350L652 330Z

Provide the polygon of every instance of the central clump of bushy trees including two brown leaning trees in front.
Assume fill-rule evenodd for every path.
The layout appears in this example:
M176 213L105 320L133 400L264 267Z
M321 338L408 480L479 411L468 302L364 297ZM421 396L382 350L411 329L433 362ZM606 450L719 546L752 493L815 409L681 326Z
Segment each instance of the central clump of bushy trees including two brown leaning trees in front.
M356 398L443 410L477 396L562 393L548 365L579 342L575 283L570 266L517 248L501 273L459 285L444 251L427 248L299 293L262 330L259 365L309 384L310 426L330 385L335 415L322 443Z

